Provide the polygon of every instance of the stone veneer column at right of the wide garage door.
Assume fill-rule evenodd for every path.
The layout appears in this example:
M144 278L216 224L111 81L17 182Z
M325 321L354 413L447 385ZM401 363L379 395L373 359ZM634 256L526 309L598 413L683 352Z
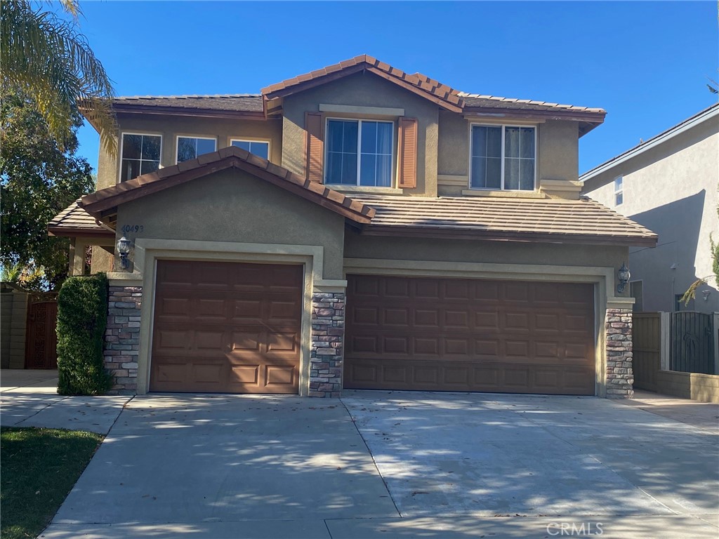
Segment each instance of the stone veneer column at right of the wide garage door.
M608 399L631 399L634 396L631 326L630 309L607 309L605 340Z

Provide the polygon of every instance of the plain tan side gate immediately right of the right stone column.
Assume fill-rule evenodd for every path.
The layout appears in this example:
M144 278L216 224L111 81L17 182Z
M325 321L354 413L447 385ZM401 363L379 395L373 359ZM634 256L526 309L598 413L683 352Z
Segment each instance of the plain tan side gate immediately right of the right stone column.
M634 387L656 391L661 369L661 313L634 313L632 327Z

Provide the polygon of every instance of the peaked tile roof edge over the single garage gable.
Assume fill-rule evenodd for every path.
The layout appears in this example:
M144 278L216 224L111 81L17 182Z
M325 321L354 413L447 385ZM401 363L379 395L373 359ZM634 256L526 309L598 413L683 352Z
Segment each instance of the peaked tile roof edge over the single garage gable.
M245 170L257 178L318 203L320 206L360 224L369 223L375 214L375 211L369 206L353 201L342 193L306 180L303 176L234 146L221 148L217 152L204 154L172 167L161 168L156 172L150 172L127 182L101 189L96 193L85 195L78 201L78 205L96 216L100 216L102 213L113 213L121 203L157 193L227 168Z

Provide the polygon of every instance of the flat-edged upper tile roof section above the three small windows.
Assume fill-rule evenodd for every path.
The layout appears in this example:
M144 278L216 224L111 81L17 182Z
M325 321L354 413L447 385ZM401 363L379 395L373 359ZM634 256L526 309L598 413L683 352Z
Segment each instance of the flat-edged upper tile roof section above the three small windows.
M127 96L113 100L116 109L124 106L172 107L210 111L262 112L259 93L236 93L219 96ZM151 109L148 109L151 110Z

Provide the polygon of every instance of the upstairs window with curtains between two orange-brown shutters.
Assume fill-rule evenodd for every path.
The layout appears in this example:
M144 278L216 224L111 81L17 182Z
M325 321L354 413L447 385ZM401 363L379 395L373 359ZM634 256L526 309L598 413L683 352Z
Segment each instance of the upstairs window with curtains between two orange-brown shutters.
M391 121L328 119L325 183L391 187Z

